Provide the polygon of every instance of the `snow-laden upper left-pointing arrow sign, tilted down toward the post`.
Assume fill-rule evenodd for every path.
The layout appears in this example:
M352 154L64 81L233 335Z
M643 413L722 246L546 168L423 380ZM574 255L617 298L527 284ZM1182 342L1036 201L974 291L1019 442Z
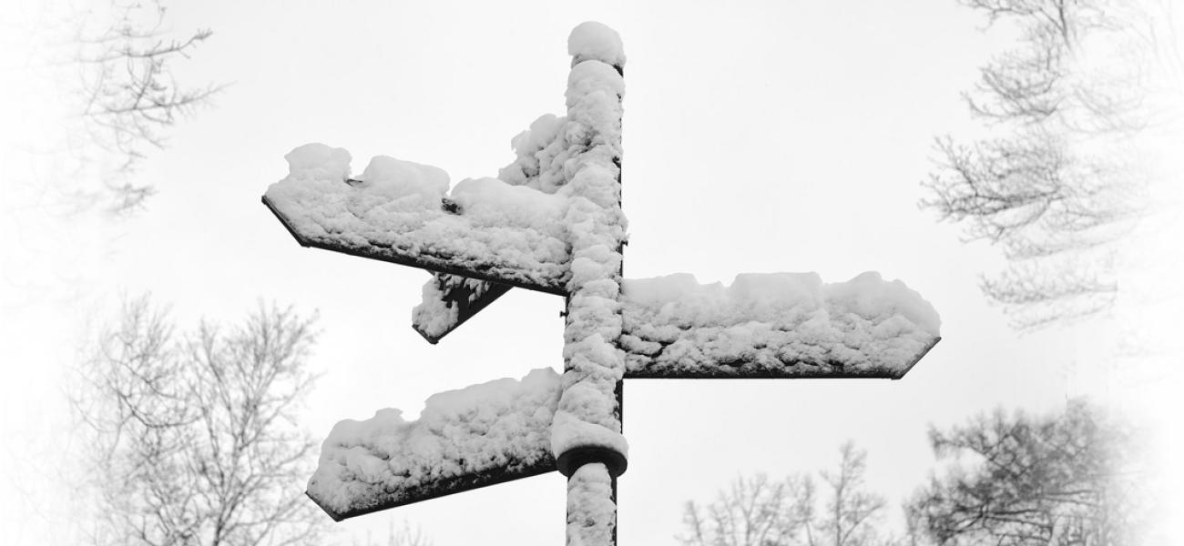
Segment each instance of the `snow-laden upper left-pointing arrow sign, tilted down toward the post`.
M464 180L378 156L349 176L349 152L305 144L264 203L303 246L562 293L564 197L497 178Z

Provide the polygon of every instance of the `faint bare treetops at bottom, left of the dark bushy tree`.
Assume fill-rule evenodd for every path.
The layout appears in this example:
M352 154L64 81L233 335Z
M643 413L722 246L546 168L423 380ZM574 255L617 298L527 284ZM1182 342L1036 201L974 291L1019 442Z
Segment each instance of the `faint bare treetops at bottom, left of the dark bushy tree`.
M688 546L873 546L875 524L884 507L882 496L863 483L867 453L850 442L839 449L837 473L822 472L828 498L817 505L809 475L771 481L765 474L738 477L707 506L687 502Z

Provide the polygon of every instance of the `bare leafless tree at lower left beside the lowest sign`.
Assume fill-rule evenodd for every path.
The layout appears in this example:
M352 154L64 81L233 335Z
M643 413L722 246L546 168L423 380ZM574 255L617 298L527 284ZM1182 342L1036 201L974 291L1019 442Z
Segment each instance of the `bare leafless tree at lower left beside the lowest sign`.
M72 397L97 489L94 544L317 544L304 498L313 442L294 414L313 385L311 320L264 307L178 334L147 298L81 370Z

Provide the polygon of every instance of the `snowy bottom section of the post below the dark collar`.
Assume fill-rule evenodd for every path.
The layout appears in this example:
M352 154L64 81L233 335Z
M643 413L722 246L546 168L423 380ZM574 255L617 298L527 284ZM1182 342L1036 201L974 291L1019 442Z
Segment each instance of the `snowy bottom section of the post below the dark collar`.
M609 469L598 462L581 466L567 480L567 546L613 544L616 527Z

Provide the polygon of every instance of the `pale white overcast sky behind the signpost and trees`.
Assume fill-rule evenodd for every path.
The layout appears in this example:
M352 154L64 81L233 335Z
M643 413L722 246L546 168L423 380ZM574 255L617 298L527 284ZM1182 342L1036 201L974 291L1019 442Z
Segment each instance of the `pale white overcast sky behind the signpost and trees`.
M495 175L510 137L564 113L566 38L584 20L616 28L629 56L626 277L875 269L942 318L944 340L899 382L626 382L620 544L674 544L684 501L738 475L830 468L847 438L869 451L868 486L889 496L896 527L895 505L932 468L929 423L1082 394L1130 405L1146 386L1113 365L1112 321L1017 336L977 287L1002 264L995 251L918 209L933 136L976 131L959 93L1010 38L979 32L952 0L205 1L169 6L169 20L214 31L179 79L232 85L152 155L139 176L160 194L147 210L120 223L6 212L0 527L17 531L5 541L70 540L52 473L69 444L64 365L121 293L152 292L185 326L237 320L259 298L318 311L323 378L304 420L318 436L379 408L413 416L442 390L560 369L560 298L511 291L429 345L410 327L427 273L302 249L259 196L308 142L349 149L355 171L382 154L453 182ZM32 87L18 87L4 100L25 123L13 135L53 112L30 110L18 93ZM4 168L6 208L27 196L13 189L20 169ZM558 545L564 499L552 474L339 526L365 537L394 518L437 545Z

